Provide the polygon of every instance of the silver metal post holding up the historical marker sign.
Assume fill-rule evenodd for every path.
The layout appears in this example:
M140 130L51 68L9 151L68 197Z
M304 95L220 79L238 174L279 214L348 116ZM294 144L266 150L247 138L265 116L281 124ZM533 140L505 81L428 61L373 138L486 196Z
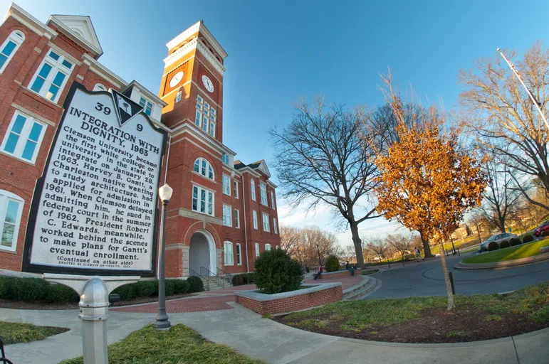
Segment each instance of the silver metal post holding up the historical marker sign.
M78 306L78 317L82 320L84 364L108 364L109 291L103 279L92 278L84 284Z

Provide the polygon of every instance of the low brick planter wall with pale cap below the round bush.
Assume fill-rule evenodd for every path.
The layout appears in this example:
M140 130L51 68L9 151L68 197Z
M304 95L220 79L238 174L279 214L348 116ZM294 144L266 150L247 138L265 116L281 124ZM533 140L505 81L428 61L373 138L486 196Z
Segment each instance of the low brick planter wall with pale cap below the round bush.
M304 284L310 287L279 294L262 294L256 291L235 292L236 303L258 314L286 314L288 312L323 306L343 299L340 282Z

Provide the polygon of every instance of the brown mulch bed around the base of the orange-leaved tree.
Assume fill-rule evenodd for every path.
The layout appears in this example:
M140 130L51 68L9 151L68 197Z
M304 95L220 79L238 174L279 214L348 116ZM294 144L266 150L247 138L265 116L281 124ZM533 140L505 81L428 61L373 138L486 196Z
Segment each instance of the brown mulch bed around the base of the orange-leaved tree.
M278 316L275 321L288 324L315 333L359 338L370 341L390 343L459 343L503 338L549 327L549 323L528 321L526 314L501 314L501 321L486 321L486 311L478 309L458 309L454 314L446 309L429 308L422 311L422 317L396 323L392 326L372 324L362 331L347 331L341 326L348 319L333 321L329 314L308 316L303 319L288 320L287 316ZM299 324L305 319L326 320L324 328ZM297 324L296 324L297 323Z

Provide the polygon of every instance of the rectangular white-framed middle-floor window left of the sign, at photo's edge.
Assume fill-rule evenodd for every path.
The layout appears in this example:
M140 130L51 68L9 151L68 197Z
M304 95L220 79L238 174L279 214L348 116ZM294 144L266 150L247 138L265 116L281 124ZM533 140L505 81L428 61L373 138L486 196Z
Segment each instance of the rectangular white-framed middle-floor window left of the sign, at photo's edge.
M46 124L16 111L2 141L1 150L34 163L45 132Z

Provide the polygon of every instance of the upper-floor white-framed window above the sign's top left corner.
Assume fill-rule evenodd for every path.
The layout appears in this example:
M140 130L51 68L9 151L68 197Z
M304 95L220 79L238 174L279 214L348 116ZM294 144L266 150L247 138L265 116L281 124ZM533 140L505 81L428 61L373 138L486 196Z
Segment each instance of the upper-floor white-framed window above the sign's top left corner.
M57 102L63 92L68 76L73 70L73 63L49 50L42 61L36 75L31 80L29 88L46 99Z

